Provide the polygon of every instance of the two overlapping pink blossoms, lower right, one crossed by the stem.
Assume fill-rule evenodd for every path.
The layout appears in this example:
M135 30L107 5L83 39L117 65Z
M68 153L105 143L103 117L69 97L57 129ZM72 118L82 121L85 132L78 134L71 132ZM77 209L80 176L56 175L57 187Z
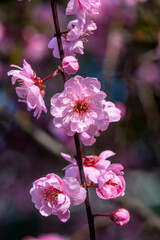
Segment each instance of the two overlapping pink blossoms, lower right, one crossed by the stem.
M75 177L80 181L77 162L70 155L61 153L62 157L71 162L65 167L65 177ZM115 155L110 150L102 152L99 156L82 156L83 169L87 184L97 184L96 193L102 199L117 198L124 195L125 180L123 178L123 166L111 164L106 160Z

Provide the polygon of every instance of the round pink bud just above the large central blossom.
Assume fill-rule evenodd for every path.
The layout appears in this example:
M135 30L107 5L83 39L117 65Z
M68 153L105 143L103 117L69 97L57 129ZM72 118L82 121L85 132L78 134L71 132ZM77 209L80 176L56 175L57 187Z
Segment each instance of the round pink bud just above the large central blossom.
M80 67L75 57L67 56L63 58L62 68L68 75L74 75Z

